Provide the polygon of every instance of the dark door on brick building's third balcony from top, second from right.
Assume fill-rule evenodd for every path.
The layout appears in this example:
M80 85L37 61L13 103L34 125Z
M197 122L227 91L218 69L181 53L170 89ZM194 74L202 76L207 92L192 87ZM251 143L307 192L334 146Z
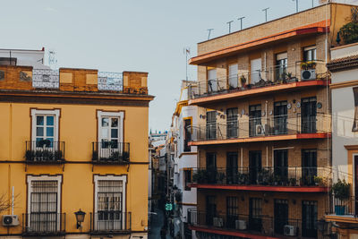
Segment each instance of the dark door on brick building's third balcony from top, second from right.
M288 182L288 159L287 150L274 151L274 175L275 182L286 184Z

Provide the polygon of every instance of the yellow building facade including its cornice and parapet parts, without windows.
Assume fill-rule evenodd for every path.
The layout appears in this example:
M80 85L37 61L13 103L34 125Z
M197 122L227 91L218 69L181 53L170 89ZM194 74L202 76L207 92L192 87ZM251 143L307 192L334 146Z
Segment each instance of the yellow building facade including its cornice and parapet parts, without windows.
M63 74L60 73L60 79ZM7 75L10 76L10 74ZM87 83L91 84L91 87L93 82L97 84L96 74L95 77L91 73L90 78L88 75L84 78L87 79L84 88L87 87ZM127 78L131 81L131 75ZM76 85L76 79L73 80ZM73 80L66 78L60 82L72 83ZM29 226L25 225L24 216L22 216L30 211L29 184L27 183L29 175L61 175L62 184L59 186L61 197L60 202L57 201L60 210L57 212L65 213L64 235L71 237L71 235L79 234L81 238L90 238L92 234L91 226L94 225L94 218L90 217L90 213L95 211L95 175L125 175L126 186L123 192L125 205L122 210L131 213L131 217L127 218L130 228L117 232L105 230L100 232L100 235L113 235L115 238L141 235L146 238L148 230L148 117L149 101L153 97L148 94L135 95L124 92L101 92L96 95L86 90L76 92L61 90L60 87L60 92L57 91L55 97L51 90L39 92L37 89L30 89L22 90L26 97L19 98L11 93L16 90L16 85L13 85L13 89L5 90L1 81L0 89L0 124L3 125L0 127L0 195L6 194L7 200L11 203L14 189L13 214L17 215L20 221L19 226L3 226L0 223L0 238L23 235L24 226ZM61 95L62 91L67 95ZM90 99L83 99L86 94L91 94ZM115 94L120 98L115 98ZM12 97L7 98L7 96ZM69 96L70 101L64 100ZM33 100L34 98L36 100ZM106 101L106 98L110 98L110 101ZM32 109L59 110L58 141L64 141L64 163L26 163L25 142L33 141L34 133ZM124 114L123 125L119 131L123 132L122 141L130 143L129 162L92 163L92 142L98 141L98 133L100 133L98 111ZM84 222L81 223L82 227L77 229L74 212L79 209L86 212L86 216ZM12 208L9 208L0 212L0 218L2 215L11 214ZM96 236L99 235L94 235Z

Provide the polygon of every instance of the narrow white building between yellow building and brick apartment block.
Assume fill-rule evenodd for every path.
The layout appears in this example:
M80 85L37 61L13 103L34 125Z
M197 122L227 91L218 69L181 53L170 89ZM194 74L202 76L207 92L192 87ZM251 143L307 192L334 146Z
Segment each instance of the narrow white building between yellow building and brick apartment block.
M172 119L171 133L175 144L174 154L174 193L175 193L175 238L196 238L195 232L188 228L188 209L196 209L196 188L189 187L192 183L191 168L197 166L197 147L190 146L194 134L192 125L198 124L198 107L188 106L188 89L195 84L183 81L181 96L176 104Z

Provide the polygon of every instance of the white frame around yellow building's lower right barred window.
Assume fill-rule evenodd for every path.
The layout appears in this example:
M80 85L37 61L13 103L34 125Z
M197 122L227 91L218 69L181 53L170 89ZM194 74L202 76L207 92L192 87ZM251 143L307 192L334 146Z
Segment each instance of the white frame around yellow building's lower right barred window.
M122 222L122 226L123 228L125 228L125 223L127 220L127 215L126 215L126 209L125 209L125 203L126 203L126 186L127 186L127 175L95 175L94 176L94 184L95 184L95 211L94 211L94 215L96 215L96 213L98 212L98 181L103 181L103 180L107 180L107 181L122 181L122 213L125 215L125 220L123 220ZM96 218L96 217L94 217ZM95 223L96 225L96 223ZM95 228L96 229L96 228Z

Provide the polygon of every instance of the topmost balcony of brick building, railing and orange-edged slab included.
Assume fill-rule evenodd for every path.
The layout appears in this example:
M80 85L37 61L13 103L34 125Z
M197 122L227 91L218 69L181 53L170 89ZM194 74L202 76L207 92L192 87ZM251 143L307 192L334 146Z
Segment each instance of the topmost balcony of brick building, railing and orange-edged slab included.
M202 105L277 91L326 86L327 78L328 70L323 61L276 65L257 72L242 71L223 78L199 81L197 86L189 89L189 104Z

